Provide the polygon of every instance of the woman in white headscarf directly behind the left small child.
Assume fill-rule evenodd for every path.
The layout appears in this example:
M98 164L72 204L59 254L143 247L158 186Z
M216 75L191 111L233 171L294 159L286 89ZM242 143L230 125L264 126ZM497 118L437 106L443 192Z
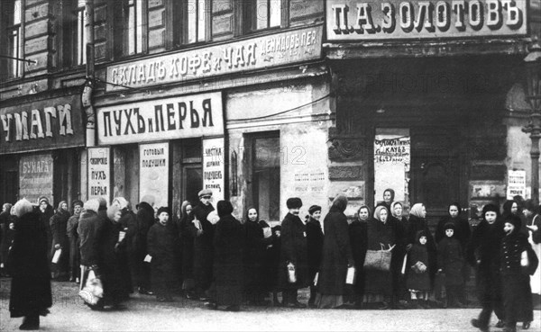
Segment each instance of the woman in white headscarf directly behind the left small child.
M428 251L428 262L431 283L434 284L434 279L437 271L437 248L436 241L428 229L428 223L426 222L426 208L422 203L414 204L409 211L409 230L408 230L408 247L413 246L416 243L417 233L423 230L426 234L426 250Z

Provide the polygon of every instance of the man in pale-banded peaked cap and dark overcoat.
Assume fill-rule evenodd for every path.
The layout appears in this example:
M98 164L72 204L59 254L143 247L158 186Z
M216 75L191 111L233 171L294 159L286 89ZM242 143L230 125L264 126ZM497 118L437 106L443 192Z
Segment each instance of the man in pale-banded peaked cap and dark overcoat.
M212 191L202 190L198 193L199 203L189 215L189 229L194 237L194 280L196 282L196 298L202 301L209 299L208 290L213 280L214 257L214 225L207 220L214 207L210 203Z

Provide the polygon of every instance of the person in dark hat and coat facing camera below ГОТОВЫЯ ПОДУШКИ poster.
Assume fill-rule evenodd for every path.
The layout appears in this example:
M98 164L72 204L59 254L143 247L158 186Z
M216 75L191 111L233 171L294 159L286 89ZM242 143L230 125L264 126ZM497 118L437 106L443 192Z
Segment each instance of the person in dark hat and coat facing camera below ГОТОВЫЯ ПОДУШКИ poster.
M158 210L158 222L152 225L147 236L147 249L151 256L152 290L159 302L173 301L170 293L178 280L178 233L172 228L169 218L169 208L161 207Z

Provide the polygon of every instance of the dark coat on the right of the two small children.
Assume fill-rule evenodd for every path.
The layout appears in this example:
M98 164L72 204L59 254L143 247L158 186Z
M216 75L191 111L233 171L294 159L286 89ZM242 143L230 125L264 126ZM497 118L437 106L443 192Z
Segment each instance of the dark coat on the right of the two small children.
M437 244L437 268L445 274L446 286L463 285L463 247L458 238L443 238Z

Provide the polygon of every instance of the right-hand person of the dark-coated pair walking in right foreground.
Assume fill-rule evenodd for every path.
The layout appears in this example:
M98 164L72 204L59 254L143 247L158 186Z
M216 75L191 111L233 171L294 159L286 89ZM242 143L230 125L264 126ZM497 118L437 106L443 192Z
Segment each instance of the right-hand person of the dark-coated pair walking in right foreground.
M502 238L500 246L504 332L516 332L517 321L534 320L529 274L536 271L538 261L535 253L531 255L533 251L527 235L520 232L520 218L510 215L504 222L505 237Z

